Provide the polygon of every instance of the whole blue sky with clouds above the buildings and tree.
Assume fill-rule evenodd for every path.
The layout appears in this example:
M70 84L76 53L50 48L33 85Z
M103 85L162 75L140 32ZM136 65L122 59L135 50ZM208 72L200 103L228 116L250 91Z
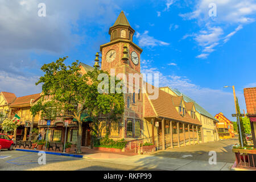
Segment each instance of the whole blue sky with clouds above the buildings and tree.
M46 4L46 17L38 4ZM217 16L209 16L215 3ZM40 67L59 57L93 65L109 27L123 10L143 49L143 73L159 73L160 86L184 92L215 115L234 113L235 85L256 86L256 1L36 1L0 0L0 90L24 96L40 92Z

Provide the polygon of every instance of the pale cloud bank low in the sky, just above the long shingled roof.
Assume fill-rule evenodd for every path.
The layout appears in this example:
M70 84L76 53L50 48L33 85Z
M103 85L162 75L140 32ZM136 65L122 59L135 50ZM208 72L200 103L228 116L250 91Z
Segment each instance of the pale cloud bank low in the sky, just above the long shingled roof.
M213 116L222 112L227 118L234 121L234 118L231 117L231 114L233 114L235 110L232 90L202 88L199 85L193 84L187 77L163 75L157 68L142 69L142 73L158 73L160 87L171 86L172 88L178 89L180 92L195 100ZM237 91L236 95L240 109L246 109L243 93Z

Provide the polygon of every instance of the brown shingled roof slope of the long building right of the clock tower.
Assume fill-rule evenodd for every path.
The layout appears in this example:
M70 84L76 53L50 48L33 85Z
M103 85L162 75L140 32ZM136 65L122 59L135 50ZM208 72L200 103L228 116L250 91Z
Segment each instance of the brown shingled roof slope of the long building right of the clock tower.
M152 89L155 89L155 87L152 86ZM191 115L189 115L187 112L185 113L185 116L181 116L178 113L173 103L174 96L164 92L163 90L160 90L159 88L156 89L158 89L159 92L158 97L154 96L154 93L150 94L150 92L148 92L148 87L146 86L148 96L154 96L154 98L151 98L150 101L152 103L152 107L154 107L154 110L156 111L156 117L163 117L171 119L173 121L201 125L199 119L191 118Z

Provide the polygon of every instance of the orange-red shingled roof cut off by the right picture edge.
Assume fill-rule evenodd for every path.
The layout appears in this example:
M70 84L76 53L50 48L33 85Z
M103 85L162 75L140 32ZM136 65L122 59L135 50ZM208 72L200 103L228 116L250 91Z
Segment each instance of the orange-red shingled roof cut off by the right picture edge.
M243 89L248 114L256 114L256 87Z

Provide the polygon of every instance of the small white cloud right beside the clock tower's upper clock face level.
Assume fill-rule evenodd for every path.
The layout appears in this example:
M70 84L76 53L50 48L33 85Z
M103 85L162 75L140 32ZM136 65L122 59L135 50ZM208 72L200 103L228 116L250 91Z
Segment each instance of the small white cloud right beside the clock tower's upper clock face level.
M152 36L148 35L148 31L144 31L143 34L137 32L136 38L139 40L139 46L141 47L155 47L155 46L169 46L169 43L157 40Z

